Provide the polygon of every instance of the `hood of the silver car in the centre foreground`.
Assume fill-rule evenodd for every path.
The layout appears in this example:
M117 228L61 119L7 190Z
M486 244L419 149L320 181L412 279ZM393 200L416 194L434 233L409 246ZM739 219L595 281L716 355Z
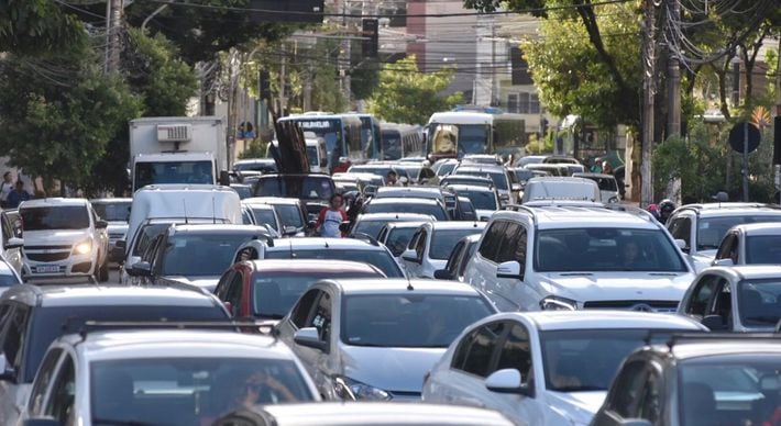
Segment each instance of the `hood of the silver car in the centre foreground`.
M416 392L447 348L342 346L344 375L389 392Z

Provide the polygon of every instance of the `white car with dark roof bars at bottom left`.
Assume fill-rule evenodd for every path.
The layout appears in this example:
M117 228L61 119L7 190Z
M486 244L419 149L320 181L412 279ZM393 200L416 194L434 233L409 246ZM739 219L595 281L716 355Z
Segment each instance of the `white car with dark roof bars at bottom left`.
M319 401L300 361L273 337L99 324L55 340L32 389L24 417L57 425L189 426L244 404Z

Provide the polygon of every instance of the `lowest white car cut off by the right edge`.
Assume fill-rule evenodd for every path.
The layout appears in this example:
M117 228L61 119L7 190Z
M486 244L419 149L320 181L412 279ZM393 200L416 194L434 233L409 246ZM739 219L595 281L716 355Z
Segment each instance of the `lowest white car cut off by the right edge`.
M716 332L772 332L781 320L781 266L705 268L678 312Z

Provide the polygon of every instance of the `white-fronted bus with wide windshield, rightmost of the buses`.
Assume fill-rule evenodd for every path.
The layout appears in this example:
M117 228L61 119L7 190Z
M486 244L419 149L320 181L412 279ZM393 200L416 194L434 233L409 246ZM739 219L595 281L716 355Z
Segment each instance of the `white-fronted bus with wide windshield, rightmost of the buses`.
M526 146L526 123L520 114L448 111L431 114L427 139L431 161L466 154L519 156Z

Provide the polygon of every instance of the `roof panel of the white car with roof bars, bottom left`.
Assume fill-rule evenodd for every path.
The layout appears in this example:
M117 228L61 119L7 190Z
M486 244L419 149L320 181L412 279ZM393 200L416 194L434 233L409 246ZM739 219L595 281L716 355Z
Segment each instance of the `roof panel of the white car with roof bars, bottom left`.
M67 335L61 341L77 347L91 360L140 358L272 358L293 359L290 350L273 337L198 329L107 329Z

